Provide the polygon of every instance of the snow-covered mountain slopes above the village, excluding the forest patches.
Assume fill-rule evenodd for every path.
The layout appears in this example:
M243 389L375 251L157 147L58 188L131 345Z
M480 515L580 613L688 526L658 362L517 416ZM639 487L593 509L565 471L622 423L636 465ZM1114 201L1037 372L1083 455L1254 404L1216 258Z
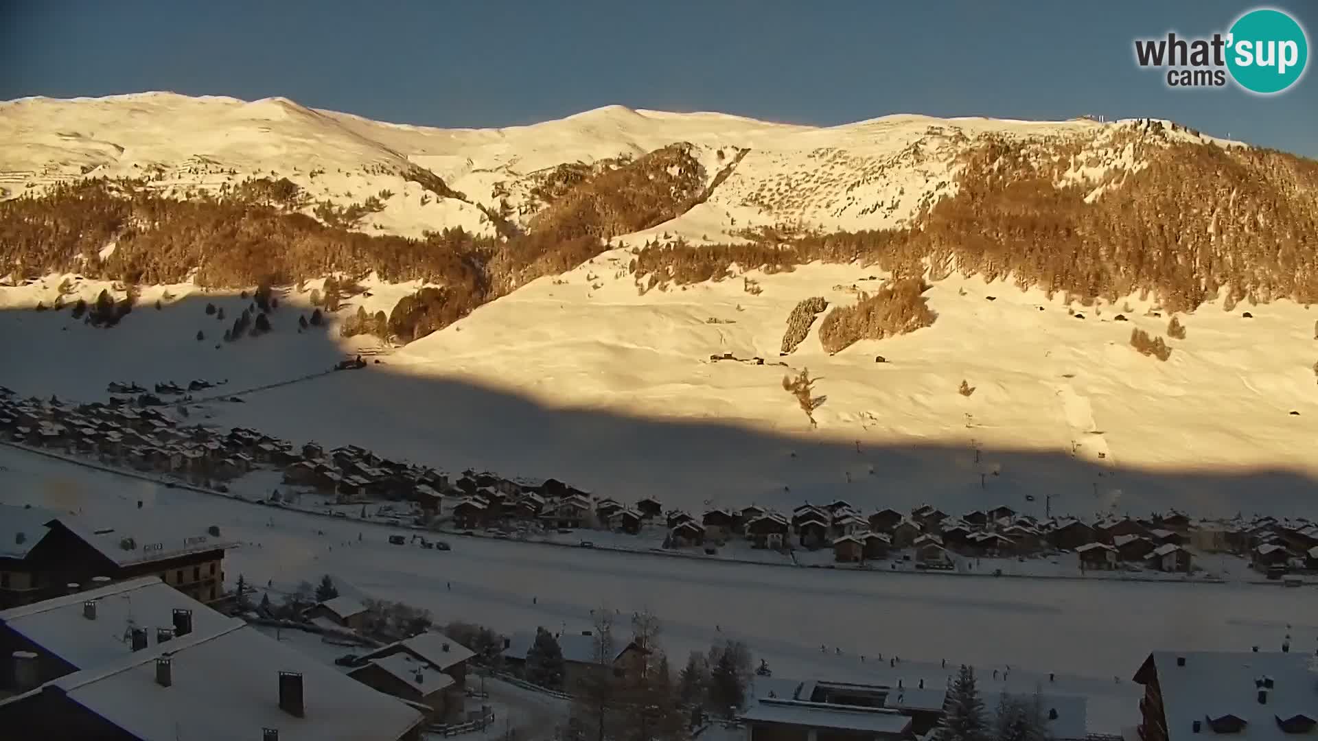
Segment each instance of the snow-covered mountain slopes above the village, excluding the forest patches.
M1058 496L1054 506L1077 514L1162 506L1311 514L1318 316L1305 306L1210 301L1180 318L1186 335L1170 340L1160 363L1130 344L1132 328L1165 331L1168 314L1153 297L1081 305L1011 280L952 274L925 294L937 312L927 328L829 353L816 322L780 356L799 302L854 303L884 272L811 264L647 291L633 280L630 248L664 236L700 244L735 241L749 227L909 225L957 191L961 156L986 133L1046 144L1049 156L1069 152L1058 182L1085 183L1089 198L1101 198L1147 166L1148 142L1132 136L1153 125L1161 141L1234 144L1157 121L903 115L815 128L606 107L530 127L436 129L285 99L24 99L0 103L0 187L14 196L84 177L146 177L186 198L248 177L287 178L344 206L389 191L384 210L366 218L368 233L494 235L490 214L534 224L564 165L588 173L680 142L701 165L704 196L675 219L618 235L614 249L476 309L369 373L264 392L262 403L227 406L214 419L692 506L828 496L1024 506ZM418 182L418 169L449 194ZM1230 215L1202 218L1201 231L1211 232ZM61 281L0 287L0 306L42 297L49 305ZM72 290L90 299L100 285L75 281ZM290 289L286 305L304 306L314 285ZM387 311L406 293L365 285L372 295L348 310ZM148 289L142 301L163 291ZM188 285L169 291L162 315L137 311L108 332L54 312L0 314L5 347L26 348L0 367L0 385L84 398L111 380L208 374L257 385L318 369L335 349L327 355L323 339L297 335L291 320L212 349L192 335L211 326L199 305L214 294L200 299ZM196 318L163 318L171 311ZM253 363L261 344L281 348L266 356L275 361ZM79 364L88 348L96 361ZM725 353L734 360L712 359ZM815 392L828 397L813 411L817 427L780 384L807 367L820 378ZM971 393L958 393L962 381Z

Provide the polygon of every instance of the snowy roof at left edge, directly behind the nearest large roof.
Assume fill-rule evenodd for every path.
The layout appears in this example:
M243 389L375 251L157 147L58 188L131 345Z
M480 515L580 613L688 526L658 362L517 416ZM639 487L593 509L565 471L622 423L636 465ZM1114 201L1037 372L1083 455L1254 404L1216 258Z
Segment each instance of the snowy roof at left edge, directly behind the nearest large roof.
M87 601L96 603L95 618L84 614ZM0 624L76 668L94 668L133 653L133 628L145 628L154 646L157 628L174 628L175 609L192 610L194 636L217 633L232 622L159 578L141 576L7 609Z

